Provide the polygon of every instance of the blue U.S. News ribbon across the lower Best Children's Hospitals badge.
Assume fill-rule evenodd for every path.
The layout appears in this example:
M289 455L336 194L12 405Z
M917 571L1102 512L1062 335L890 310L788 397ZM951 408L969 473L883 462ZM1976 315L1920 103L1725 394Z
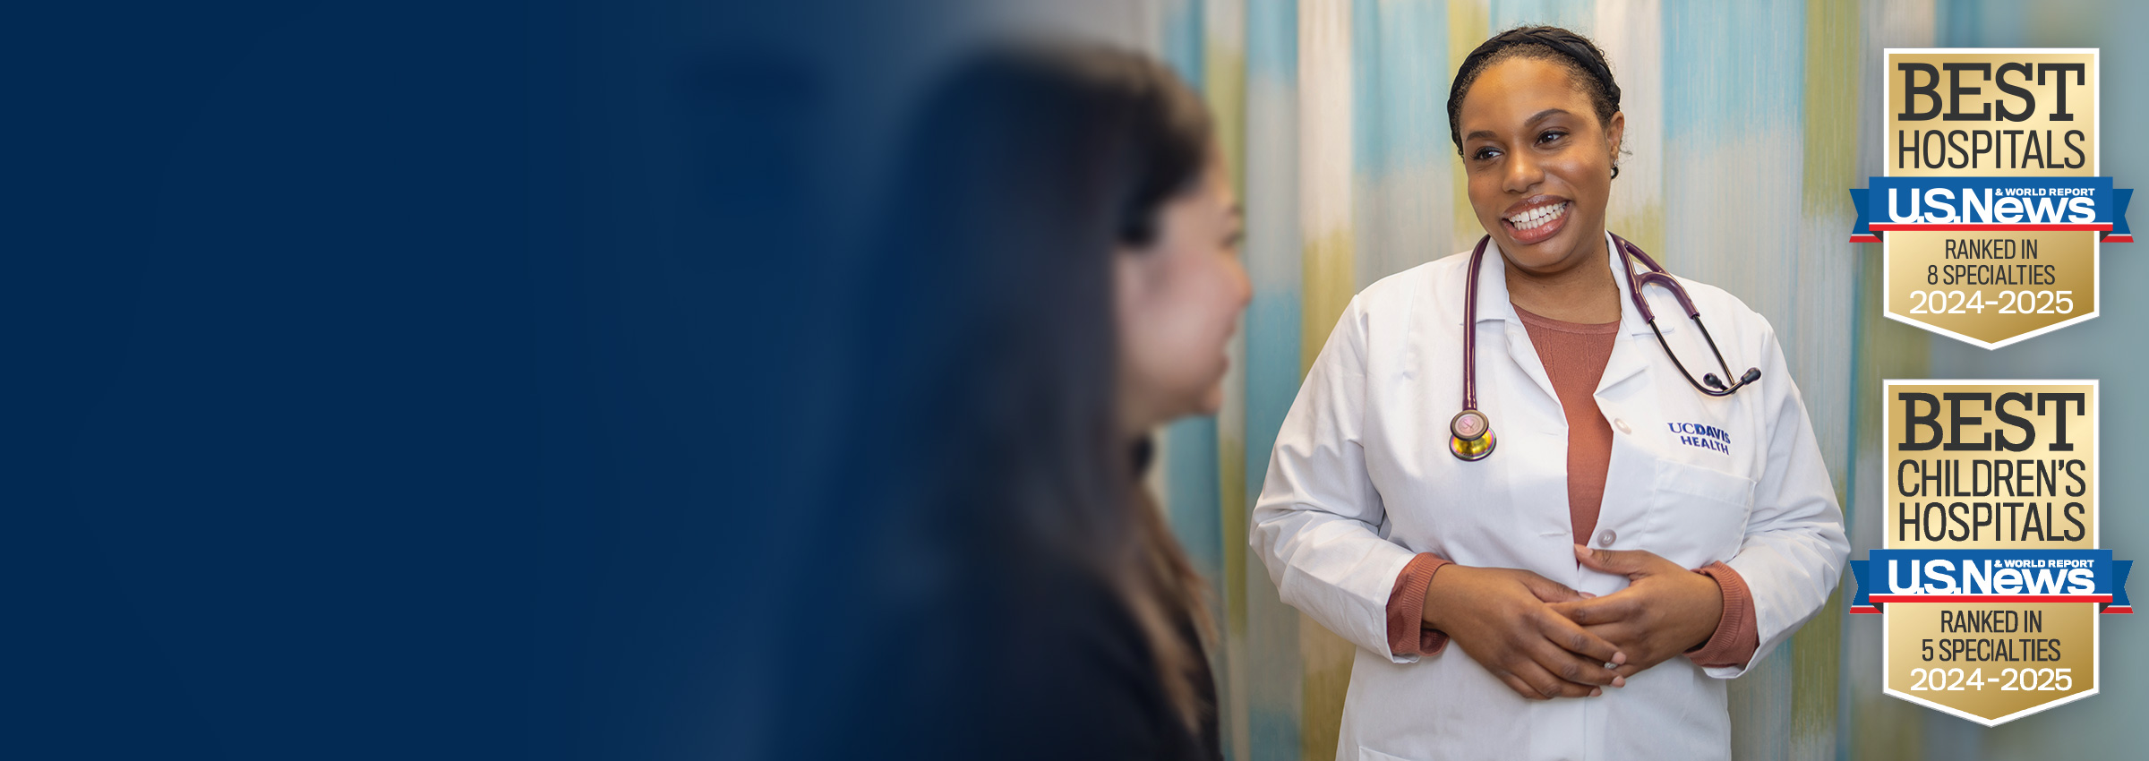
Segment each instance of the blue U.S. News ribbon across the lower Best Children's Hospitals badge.
M2112 550L1872 550L1850 561L1850 613L1887 602L2104 602L2104 613L2134 613L2132 568Z

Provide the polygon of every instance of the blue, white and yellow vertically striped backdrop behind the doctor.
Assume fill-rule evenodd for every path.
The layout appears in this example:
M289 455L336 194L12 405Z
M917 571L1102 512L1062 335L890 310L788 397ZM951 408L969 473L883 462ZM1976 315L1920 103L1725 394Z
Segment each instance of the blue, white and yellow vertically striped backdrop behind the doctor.
M2091 32L2065 37L2065 19L2089 19L2080 28L2091 30L2097 13L2140 15L2115 2L2076 4L2044 26L2027 24L2024 4L1945 0L1062 6L1064 24L1150 49L1206 92L1246 202L1255 295L1231 348L1225 411L1165 432L1154 484L1214 580L1227 757L1335 757L1352 645L1277 600L1246 552L1246 514L1283 413L1350 297L1481 234L1446 133L1448 80L1472 47L1504 28L1560 24L1612 56L1627 157L1610 226L1672 271L1745 299L1784 335L1859 552L1878 546L1880 531L1880 411L1870 398L1880 378L1928 376L1930 357L1953 357L1928 333L1880 318L1878 245L1844 241L1846 189L1880 174L1883 146L1870 129L1880 49L2097 45L2082 37ZM2125 64L2110 49L2108 58L2108 71ZM2123 155L2119 140L2106 150ZM1844 621L1837 600L1732 681L1734 757L1977 750L1981 740L1960 737L1984 737L1981 729L1964 735L1968 724L1880 694L1876 626Z

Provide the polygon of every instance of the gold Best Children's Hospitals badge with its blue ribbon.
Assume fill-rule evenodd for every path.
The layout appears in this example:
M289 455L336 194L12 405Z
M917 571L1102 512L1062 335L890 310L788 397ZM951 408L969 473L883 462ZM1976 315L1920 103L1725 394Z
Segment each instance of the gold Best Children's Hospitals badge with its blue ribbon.
M2097 694L2095 380L1887 380L1883 548L1850 561L1887 694L1994 727Z

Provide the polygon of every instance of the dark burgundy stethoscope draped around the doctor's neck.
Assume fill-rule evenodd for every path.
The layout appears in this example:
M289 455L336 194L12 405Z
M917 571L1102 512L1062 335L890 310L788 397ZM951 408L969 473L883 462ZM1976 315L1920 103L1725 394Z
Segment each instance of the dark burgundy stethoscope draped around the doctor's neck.
M1485 260L1485 243L1491 243L1489 234L1479 239L1476 249L1470 252L1470 279L1463 286L1463 411L1455 413L1455 419L1448 421L1448 451L1455 451L1457 458L1472 462L1485 460L1496 443L1491 434L1491 419L1476 408L1476 271L1479 262ZM1642 254L1642 247L1627 243L1627 239L1620 239L1618 234L1612 236L1612 243L1618 243L1620 271L1627 273L1627 297L1633 299L1635 310L1642 310L1642 320L1646 320L1648 329L1657 333L1657 344L1663 346L1663 355L1672 357L1672 365L1678 368L1678 374L1687 376L1687 383L1691 383L1696 391L1708 396L1732 396L1749 383L1760 380L1760 368L1747 368L1747 372L1739 376L1739 383L1728 387L1715 372L1704 372L1702 378L1696 380L1693 372L1678 361L1678 353L1672 350L1672 344L1663 340L1663 331L1657 329L1657 314L1648 307L1648 299L1642 299L1642 288L1659 284L1670 290L1672 297L1678 299L1678 305L1687 307L1687 318L1702 329L1702 340L1708 342L1708 353L1717 355L1717 368L1723 368L1723 376L1730 376L1732 365L1723 361L1723 353L1717 350L1717 340L1708 335L1708 325L1702 322L1702 312L1693 307L1691 299L1687 299L1687 288L1681 288L1678 279L1674 279L1672 273L1665 273L1663 267L1657 267L1657 260ZM1633 258L1640 258L1648 271L1635 275Z

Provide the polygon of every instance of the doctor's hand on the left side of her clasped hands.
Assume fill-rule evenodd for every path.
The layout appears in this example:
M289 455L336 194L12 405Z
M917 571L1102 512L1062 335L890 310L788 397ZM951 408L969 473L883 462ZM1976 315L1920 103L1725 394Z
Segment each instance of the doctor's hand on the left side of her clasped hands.
M1584 595L1526 570L1446 565L1425 587L1425 623L1530 701L1627 686L1605 669L1627 654L1547 606L1571 600Z

